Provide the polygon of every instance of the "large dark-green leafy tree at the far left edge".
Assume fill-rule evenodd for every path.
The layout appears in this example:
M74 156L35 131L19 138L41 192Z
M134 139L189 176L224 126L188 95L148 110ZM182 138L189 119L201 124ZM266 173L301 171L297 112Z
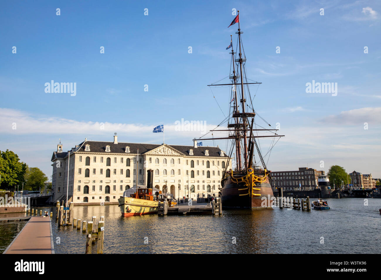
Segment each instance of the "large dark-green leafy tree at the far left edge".
M10 150L0 151L0 174L2 189L13 189L23 182L27 165Z

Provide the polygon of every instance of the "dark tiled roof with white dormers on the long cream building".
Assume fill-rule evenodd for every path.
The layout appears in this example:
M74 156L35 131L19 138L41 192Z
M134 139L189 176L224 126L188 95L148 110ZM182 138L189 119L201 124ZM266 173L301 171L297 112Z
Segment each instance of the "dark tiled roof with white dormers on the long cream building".
M140 143L122 143L114 144L114 142L101 142L101 141L86 141L85 144L78 150L78 152L85 152L85 146L90 145L89 153L106 153L106 146L110 146L110 152L107 153L125 153L126 146L130 147L130 153L136 154L139 149L139 154L144 154L152 149L162 146L161 144L140 144ZM80 143L78 146L81 146ZM189 155L189 149L193 149L193 155L196 157L205 157L205 150L209 151L210 157L220 157L221 149L218 147L193 147L181 145L168 145L173 149L178 150L184 155ZM227 157L226 154L224 154Z

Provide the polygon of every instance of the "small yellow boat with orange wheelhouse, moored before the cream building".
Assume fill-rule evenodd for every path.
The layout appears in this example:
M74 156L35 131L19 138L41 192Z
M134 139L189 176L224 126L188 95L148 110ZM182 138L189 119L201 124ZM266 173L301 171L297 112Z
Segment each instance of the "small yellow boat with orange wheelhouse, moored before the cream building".
M138 189L131 197L119 198L118 203L123 217L157 213L158 202L153 199L152 189Z

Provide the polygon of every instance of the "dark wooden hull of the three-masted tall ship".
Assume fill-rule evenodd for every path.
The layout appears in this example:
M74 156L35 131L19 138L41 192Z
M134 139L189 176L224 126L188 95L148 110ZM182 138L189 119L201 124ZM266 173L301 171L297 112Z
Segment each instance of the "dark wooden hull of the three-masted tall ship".
M255 182L255 194L258 196L250 197L244 183L232 182L230 174L224 178L224 186L221 189L221 199L223 208L239 209L272 209L274 195L272 193L269 179L262 183Z

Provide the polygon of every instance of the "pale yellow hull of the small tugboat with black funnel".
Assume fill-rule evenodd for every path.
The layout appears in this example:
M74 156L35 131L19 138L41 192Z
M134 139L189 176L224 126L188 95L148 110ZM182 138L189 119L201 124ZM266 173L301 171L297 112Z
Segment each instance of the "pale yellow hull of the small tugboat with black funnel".
M118 199L118 203L123 217L157 213L157 201L132 197L121 197Z

